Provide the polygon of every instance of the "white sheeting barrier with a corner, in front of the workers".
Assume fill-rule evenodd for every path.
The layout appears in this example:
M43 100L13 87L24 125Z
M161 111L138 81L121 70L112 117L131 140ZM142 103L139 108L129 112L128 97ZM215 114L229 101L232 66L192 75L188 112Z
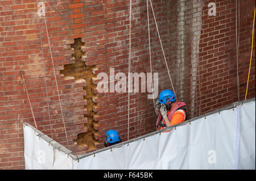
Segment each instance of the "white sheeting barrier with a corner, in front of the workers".
M24 124L26 169L255 169L255 99L235 106L78 157Z

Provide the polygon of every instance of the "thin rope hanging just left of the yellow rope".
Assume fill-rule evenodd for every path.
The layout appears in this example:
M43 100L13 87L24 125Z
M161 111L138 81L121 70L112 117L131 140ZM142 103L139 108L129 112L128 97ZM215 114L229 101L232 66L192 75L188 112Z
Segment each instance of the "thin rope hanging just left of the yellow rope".
M240 1L238 0L238 24L239 28L238 31L240 31ZM238 32L238 38L237 38L237 0L236 0L236 46L237 46L237 92L238 92L238 101L240 101L240 81L239 81L239 74L238 74L238 54L239 54L239 37L240 32Z

